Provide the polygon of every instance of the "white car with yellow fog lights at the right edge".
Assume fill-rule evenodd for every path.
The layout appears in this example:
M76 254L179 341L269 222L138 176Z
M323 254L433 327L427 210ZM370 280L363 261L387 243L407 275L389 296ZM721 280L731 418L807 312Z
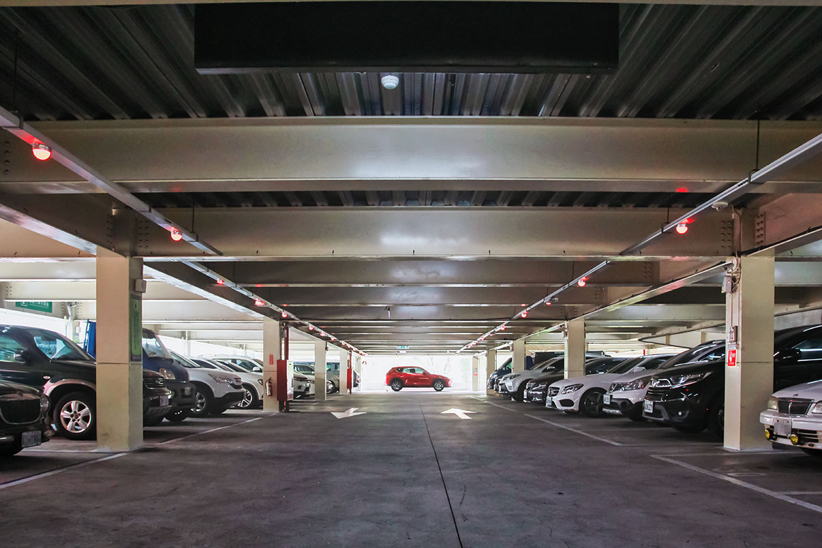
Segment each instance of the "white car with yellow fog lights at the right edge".
M766 440L822 457L822 380L775 392L760 422Z

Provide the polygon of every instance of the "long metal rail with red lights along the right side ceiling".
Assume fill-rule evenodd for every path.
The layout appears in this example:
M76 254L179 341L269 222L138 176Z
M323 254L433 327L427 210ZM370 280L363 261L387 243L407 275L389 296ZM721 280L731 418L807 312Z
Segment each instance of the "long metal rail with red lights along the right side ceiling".
M737 182L731 187L728 187L726 190L720 192L718 195L713 196L713 198L711 198L710 200L704 201L702 204L697 205L694 209L688 211L686 214L682 214L677 219L663 225L662 228L659 228L658 230L649 234L647 237L644 237L644 239L642 239L640 242L635 243L633 246L626 247L626 249L620 251L619 255L633 255L634 253L643 250L658 237L672 230L676 230L678 224L690 223L690 219L694 218L696 215L702 213L703 211L709 210L712 207L717 207L717 205L724 206L731 204L733 200L737 200L740 196L750 191L751 188L760 185L764 182L768 182L769 180L772 180L774 177L777 177L781 173L786 172L788 169L796 167L800 163L805 162L807 159L810 159L816 154L820 154L820 152L822 152L822 134L815 136L813 139L808 140L803 145L797 146L796 149L791 150L787 154L784 154L783 156L779 157L778 159L775 159L773 162L769 163L764 168L761 168L755 171L754 173L751 173L748 177L742 179L740 182ZM600 272L603 269L606 269L611 264L612 261L603 260L603 262L594 266L593 269L590 269L588 272L581 274L577 278L571 280L569 283L563 285L561 288L556 289L556 291L552 292L550 295L547 295L547 297L543 297L538 302L534 302L531 306L524 308L523 311L528 312L531 309L543 304L543 302L550 302L553 297L556 297L561 292L566 291L566 289L573 287L581 279L588 279L592 274ZM509 321L513 321L520 318L523 311L517 312ZM464 350L472 347L473 345L480 343L483 340L483 338L487 338L492 334L495 334L497 331L499 331L503 325L506 324L498 325L496 326L496 328L487 331L486 333L480 335L478 338L474 339L471 343L466 344L463 348L459 348L459 350L457 350L455 353L459 354L459 352L463 352Z

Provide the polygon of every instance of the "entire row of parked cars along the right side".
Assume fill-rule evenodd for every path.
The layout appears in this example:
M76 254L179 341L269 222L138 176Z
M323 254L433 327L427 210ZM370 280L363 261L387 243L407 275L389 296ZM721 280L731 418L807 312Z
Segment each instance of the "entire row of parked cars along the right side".
M562 412L621 415L722 437L725 349L725 341L713 340L674 356L589 359L585 375L570 379L563 378L562 358L553 358L503 375L495 387ZM774 390L760 414L765 438L822 457L822 325L774 334Z

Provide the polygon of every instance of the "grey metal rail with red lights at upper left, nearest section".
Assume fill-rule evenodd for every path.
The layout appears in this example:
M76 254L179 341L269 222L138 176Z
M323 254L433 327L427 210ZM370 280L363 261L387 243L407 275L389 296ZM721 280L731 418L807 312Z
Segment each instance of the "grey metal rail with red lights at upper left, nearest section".
M73 173L76 173L80 177L84 178L86 181L90 182L101 191L104 191L109 196L116 198L123 204L132 208L132 210L135 210L137 213L141 214L145 217L145 219L149 219L160 228L169 231L169 233L172 233L172 231L177 231L181 236L181 240L188 242L207 255L222 255L216 247L210 246L206 242L201 242L196 233L192 233L186 228L180 226L178 223L174 223L171 219L165 217L165 215L160 214L157 210L153 209L143 200L140 200L134 196L124 187L111 181L109 178L104 177L102 173L99 173L94 168L91 168L90 165L77 158L68 150L62 148L62 146L58 145L54 140L37 131L34 127L31 127L31 124L24 122L22 117L19 117L2 107L0 107L0 127L11 133L13 136L16 136L18 139L25 141L25 143L28 143L29 145L47 145L48 148L51 149L51 159L61 164L69 171L72 171Z

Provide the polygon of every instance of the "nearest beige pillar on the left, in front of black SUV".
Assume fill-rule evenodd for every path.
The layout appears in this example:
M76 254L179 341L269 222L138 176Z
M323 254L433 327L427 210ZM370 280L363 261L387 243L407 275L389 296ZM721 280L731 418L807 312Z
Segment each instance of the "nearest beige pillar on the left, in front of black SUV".
M143 261L97 249L97 449L143 444Z

